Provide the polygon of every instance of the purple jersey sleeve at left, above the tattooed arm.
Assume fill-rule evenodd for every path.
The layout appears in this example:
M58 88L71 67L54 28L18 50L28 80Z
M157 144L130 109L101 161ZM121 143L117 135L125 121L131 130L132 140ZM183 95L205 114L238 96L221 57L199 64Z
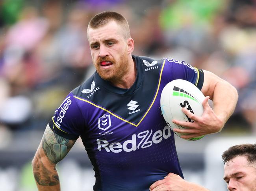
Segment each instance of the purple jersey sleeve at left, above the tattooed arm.
M49 126L56 134L76 140L84 127L84 119L79 106L70 93L62 104L55 110L49 121Z

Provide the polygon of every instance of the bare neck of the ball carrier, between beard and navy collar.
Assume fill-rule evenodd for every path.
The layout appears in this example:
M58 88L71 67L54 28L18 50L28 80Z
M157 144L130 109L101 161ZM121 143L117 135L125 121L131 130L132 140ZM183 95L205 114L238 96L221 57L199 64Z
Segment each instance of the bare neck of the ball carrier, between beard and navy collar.
M137 70L135 60L132 59L132 56L128 59L128 71L126 75L122 76L120 80L112 81L111 83L116 87L121 87L124 89L129 89L132 87L136 80Z

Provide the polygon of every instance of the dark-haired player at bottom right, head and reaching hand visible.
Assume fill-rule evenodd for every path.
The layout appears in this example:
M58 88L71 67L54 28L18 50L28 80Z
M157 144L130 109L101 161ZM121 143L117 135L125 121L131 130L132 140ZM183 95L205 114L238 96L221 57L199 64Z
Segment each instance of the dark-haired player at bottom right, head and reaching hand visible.
M256 191L256 144L230 147L222 155L224 180L229 191ZM180 176L169 173L150 186L150 191L209 191Z

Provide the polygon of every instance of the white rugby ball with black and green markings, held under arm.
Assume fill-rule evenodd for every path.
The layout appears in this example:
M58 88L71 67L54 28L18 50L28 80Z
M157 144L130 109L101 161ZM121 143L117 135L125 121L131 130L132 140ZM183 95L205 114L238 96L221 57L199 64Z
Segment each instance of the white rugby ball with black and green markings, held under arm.
M197 116L202 116L204 109L202 102L204 95L197 86L186 80L173 80L165 85L161 93L161 111L163 118L171 129L184 129L172 122L173 119L179 121L193 122L187 115L182 112L185 107ZM174 132L178 136L186 135ZM186 140L199 140L204 136L189 138Z

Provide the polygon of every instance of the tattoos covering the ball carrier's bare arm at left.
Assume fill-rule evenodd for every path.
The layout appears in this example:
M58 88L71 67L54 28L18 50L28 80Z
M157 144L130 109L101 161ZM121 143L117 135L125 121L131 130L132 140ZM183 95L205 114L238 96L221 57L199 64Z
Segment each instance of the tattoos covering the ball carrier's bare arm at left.
M55 186L59 184L59 176L56 164L62 160L76 140L69 140L54 133L50 127L46 127L42 139L42 149L52 165L45 166L41 160L43 153L38 153L34 158L33 172L36 182L41 186Z

